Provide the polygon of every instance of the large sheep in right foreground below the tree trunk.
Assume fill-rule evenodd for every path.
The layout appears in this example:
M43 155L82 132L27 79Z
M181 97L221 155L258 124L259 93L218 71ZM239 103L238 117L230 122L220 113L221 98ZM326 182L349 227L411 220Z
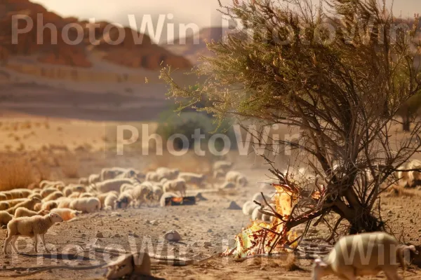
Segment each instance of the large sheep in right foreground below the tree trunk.
M385 232L348 235L335 244L324 260L314 260L312 279L319 280L327 274L356 279L357 276L376 275L383 271L387 279L397 280L400 277L396 260L405 270L403 252L408 249L416 251L413 245L399 245L392 235Z

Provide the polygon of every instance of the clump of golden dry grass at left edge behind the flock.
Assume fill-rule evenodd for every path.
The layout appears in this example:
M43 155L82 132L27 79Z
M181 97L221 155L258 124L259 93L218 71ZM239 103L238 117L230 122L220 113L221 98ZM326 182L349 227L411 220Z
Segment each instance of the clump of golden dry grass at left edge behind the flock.
M27 188L35 181L34 169L27 160L6 160L1 163L0 190Z

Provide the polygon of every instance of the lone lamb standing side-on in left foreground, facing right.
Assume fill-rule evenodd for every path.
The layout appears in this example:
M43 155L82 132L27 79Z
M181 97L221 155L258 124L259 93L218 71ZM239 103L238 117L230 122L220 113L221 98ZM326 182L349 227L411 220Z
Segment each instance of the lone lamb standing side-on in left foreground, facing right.
M4 241L3 253L6 254L7 246L10 242L13 251L15 251L15 253L19 253L18 248L15 246L16 239L18 239L19 236L34 237L34 250L37 253L38 235L41 235L41 241L46 253L50 253L46 247L44 235L52 225L62 221L63 219L55 213L51 213L46 216L36 215L32 217L14 218L7 225L7 238Z

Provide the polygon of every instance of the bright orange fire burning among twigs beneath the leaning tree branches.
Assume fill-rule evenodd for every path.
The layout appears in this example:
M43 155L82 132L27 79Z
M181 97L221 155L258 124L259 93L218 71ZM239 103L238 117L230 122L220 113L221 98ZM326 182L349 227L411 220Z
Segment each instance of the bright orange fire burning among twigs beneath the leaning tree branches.
M275 209L263 205L262 213L273 216L272 223L253 221L248 228L236 235L236 246L229 248L223 255L234 258L246 258L250 255L287 252L295 248L298 238L295 232L286 228L286 223L293 212L293 205L298 192L286 185L272 184L276 194L272 197ZM267 199L265 198L267 201Z

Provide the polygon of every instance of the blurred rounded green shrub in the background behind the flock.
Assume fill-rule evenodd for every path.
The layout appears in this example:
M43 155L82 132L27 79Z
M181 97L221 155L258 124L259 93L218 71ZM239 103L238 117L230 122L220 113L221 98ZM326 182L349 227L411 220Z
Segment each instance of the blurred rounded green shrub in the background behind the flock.
M222 123L215 123L213 118L206 114L197 112L185 113L166 113L161 116L156 134L159 134L163 139L163 146L166 146L168 139L174 134L182 134L187 137L189 148L194 148L196 139L192 137L195 130L199 129L200 134L204 134L205 138L201 139L203 150L208 147L208 141L213 134L224 134L231 143L231 148L236 148L236 137L232 124L229 120ZM175 138L173 141L174 148L180 150L183 148L183 142L180 138ZM185 147L186 148L186 147ZM215 149L221 151L224 148L224 140L221 137L215 139Z

